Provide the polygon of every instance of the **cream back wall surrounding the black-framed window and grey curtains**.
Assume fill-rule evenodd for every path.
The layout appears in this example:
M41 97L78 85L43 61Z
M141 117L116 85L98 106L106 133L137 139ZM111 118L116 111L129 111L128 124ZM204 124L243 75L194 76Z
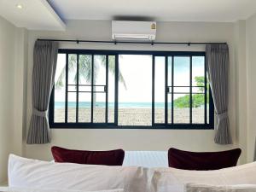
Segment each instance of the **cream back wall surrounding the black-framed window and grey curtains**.
M230 45L230 128L233 145L221 146L213 142L214 131L201 130L79 130L54 129L52 143L25 145L25 156L50 160L50 147L59 145L66 148L107 150L167 150L170 147L193 151L215 151L235 148L239 145L236 137L236 63L235 30L233 23L203 22L158 22L157 41L227 42ZM32 49L37 38L73 38L109 40L111 22L102 20L69 20L66 32L28 32L27 63L27 119L26 131L32 114ZM204 50L204 46L160 46L127 44L61 44L61 48L79 49L154 49L154 50ZM242 154L244 155L244 154Z

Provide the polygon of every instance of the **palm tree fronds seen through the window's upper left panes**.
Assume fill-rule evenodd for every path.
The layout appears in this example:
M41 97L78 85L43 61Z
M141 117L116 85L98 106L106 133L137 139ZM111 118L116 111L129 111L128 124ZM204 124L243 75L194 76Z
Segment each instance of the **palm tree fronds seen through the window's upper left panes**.
M94 62L94 79L97 79L99 65L106 68L106 56L99 55L97 56L97 62ZM76 72L76 63L77 63L77 55L69 55L68 56L68 72ZM114 56L108 57L108 70L114 75L115 73L115 58ZM64 78L66 73L66 67L63 67L61 70L61 74L57 81L55 82L55 89L61 89L64 86ZM77 80L78 73L75 73L74 82ZM79 55L79 83L81 83L82 79L85 79L89 84L91 83L91 57L88 55ZM119 71L119 82L124 85L125 89L127 89L125 84L125 79L123 74Z

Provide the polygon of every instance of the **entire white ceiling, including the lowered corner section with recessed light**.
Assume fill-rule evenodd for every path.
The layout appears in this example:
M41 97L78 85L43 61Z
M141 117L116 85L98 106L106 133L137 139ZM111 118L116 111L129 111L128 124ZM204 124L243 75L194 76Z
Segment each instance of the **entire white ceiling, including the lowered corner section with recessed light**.
M254 13L256 0L0 0L15 26L49 31L64 31L62 20L233 22Z

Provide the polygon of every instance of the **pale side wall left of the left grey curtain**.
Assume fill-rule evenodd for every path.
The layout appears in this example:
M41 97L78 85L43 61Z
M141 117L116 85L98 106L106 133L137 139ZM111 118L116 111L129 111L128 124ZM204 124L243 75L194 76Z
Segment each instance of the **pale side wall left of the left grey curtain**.
M26 30L0 17L0 183L7 180L10 153L22 154Z

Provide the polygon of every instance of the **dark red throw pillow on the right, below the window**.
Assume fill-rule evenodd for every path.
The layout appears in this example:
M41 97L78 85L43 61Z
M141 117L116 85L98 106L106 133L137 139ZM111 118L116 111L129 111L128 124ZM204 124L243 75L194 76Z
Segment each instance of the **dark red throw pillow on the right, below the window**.
M217 170L236 166L241 154L240 148L220 152L189 152L170 148L168 151L169 166L185 170Z

